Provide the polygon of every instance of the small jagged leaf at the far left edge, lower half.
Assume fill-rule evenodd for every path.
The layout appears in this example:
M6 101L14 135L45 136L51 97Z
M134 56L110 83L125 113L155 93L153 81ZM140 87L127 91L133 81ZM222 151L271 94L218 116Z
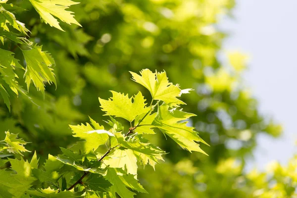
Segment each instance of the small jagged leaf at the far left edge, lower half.
M6 137L4 139L4 142L7 144L8 148L8 152L11 153L18 153L20 155L23 155L21 152L29 152L29 150L27 150L24 145L27 144L27 142L25 142L23 139L19 139L17 134L12 134L9 133L9 131L5 132Z

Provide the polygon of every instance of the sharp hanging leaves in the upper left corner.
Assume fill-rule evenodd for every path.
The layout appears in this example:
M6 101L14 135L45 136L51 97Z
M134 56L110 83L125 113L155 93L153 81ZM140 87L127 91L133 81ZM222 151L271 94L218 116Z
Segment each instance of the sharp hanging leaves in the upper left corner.
M72 12L65 10L65 8L69 8L70 5L77 4L77 2L71 0L29 1L44 22L50 26L62 30L59 22L53 16L68 24L74 23L80 25L73 18ZM0 94L9 110L10 96L18 96L19 93L27 96L27 92L19 85L17 80L18 75L14 72L16 68L25 70L24 77L28 91L31 81L33 81L37 90L41 91L43 95L45 95L45 82L49 83L49 85L52 83L56 85L54 73L52 72L52 67L55 64L53 58L47 51L42 50L42 46L30 42L26 38L29 37L28 33L30 31L25 27L24 23L16 20L15 15L11 12L15 9L18 9L18 7L12 3L7 3L7 0L0 1L0 41L4 45L4 42L6 43L9 40L13 48L21 49L26 64L24 68L15 59L12 51L0 49ZM17 31L17 33L14 33L12 29Z

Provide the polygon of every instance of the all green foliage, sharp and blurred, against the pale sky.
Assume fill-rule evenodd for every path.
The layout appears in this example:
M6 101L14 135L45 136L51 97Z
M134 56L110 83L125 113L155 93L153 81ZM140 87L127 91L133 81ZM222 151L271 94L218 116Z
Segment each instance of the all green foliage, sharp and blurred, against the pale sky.
M258 111L244 86L247 56L222 53L226 34L217 23L234 4L0 0L0 195L238 198L278 191L293 197L287 169L274 173L276 189L243 172L257 135L277 137L282 128ZM191 90L180 87L195 91L184 95ZM85 115L108 120L78 125ZM198 146L204 141L194 128L210 147ZM26 142L32 143L24 148ZM105 142L115 148L101 163ZM153 168L137 169L147 164ZM67 191L82 176L83 184Z

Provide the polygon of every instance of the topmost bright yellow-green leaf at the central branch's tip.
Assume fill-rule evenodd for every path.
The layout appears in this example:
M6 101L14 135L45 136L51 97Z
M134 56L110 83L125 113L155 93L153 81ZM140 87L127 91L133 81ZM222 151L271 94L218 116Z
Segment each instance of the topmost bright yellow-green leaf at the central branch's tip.
M165 71L152 73L149 69L144 69L140 72L141 76L134 72L130 73L135 82L148 89L152 99L162 100L170 106L185 104L176 98L181 95L181 89L178 85L169 83Z

